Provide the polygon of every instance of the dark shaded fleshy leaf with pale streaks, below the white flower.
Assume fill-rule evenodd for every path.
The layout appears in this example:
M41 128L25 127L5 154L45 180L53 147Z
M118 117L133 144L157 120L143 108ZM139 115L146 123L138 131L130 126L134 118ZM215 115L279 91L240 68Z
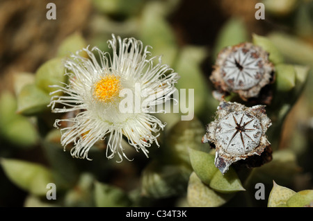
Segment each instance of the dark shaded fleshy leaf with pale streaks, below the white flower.
M143 195L153 198L169 197L186 191L191 170L184 165L164 165L152 161L142 175Z

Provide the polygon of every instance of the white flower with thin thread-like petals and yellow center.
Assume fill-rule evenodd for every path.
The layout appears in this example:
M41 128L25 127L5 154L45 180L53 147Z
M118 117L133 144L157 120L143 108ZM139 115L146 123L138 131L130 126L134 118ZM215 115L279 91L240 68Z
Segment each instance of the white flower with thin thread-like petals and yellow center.
M117 153L122 161L123 156L127 158L121 144L123 135L130 145L137 151L142 150L147 157L147 148L153 142L159 146L157 137L165 124L149 114L149 109L170 98L179 76L167 65L161 64L161 57L148 58L148 46L144 47L141 41L112 36L113 39L108 41L112 55L97 47L92 50L84 48L88 59L77 52L65 62L70 71L66 73L69 84L52 86L59 89L51 94L63 92L63 95L51 98L49 106L52 112L79 113L54 123L58 127L65 121L67 127L61 129L61 144L65 148L74 143L72 157L89 159L88 150L97 141L107 138L106 157L111 159ZM99 55L99 62L93 52ZM139 94L136 85L140 86ZM135 100L126 113L125 109L122 112L120 109L120 103L125 99L120 94L125 89L132 92L131 97L134 96ZM141 111L134 112L133 104L136 108L141 105Z

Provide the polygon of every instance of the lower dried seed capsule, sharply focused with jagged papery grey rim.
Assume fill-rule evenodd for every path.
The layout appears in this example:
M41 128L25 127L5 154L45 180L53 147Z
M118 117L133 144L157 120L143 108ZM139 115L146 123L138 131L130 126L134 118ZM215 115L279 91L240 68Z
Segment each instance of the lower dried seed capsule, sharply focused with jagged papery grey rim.
M215 165L225 173L229 166L241 159L261 155L271 143L266 130L271 120L266 116L264 105L246 107L239 103L221 102L216 120L207 125L202 143L215 145Z

